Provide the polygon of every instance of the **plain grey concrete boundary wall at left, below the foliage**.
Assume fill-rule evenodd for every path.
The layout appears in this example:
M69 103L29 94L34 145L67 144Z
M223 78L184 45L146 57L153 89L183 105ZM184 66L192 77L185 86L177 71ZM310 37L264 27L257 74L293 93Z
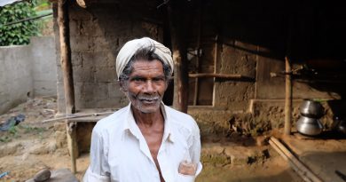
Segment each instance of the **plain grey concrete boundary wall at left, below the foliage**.
M0 47L0 114L32 96L57 94L54 38Z

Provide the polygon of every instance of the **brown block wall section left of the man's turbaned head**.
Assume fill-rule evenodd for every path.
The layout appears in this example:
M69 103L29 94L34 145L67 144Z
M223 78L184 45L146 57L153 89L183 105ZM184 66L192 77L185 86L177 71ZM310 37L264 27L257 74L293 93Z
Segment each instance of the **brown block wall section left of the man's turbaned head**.
M131 3L131 2L130 2ZM115 58L127 41L149 36L162 41L162 30L155 22L150 2L139 4L98 1L83 9L71 4L69 9L70 42L75 83L75 107L123 107L128 100L116 81ZM54 20L57 7L54 5ZM149 11L148 11L149 10ZM54 26L55 36L59 28ZM59 40L56 41L59 52ZM65 112L63 78L58 53L58 107Z

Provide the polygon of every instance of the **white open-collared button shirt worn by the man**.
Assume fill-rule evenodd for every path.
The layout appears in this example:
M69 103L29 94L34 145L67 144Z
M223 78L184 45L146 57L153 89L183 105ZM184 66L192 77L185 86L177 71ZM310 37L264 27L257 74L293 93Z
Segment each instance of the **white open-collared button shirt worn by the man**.
M201 172L200 129L193 117L161 105L164 132L157 160L166 182L194 181ZM197 165L195 176L178 173L179 163ZM160 182L159 171L130 105L98 121L91 135L84 182Z

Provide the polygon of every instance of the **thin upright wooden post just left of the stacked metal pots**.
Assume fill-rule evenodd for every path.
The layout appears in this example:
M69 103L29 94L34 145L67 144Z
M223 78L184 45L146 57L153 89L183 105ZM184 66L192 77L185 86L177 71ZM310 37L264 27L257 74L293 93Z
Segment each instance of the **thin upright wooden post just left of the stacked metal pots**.
M292 121L292 80L291 80L291 63L290 60L285 57L286 65L286 97L285 97L285 135L291 134L291 121Z

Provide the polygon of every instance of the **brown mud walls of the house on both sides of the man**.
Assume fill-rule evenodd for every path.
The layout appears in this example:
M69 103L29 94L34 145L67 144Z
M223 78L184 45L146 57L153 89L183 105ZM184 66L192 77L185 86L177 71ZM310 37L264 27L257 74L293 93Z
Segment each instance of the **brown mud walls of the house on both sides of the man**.
M150 36L162 42L167 34L163 30L168 29L163 28L161 17L167 14L160 14L157 5L152 1L124 3L107 0L90 4L86 9L76 4L70 5L70 40L77 109L123 107L128 103L115 81L114 61L122 44L132 38ZM193 6L193 3L191 6L198 7ZM200 105L189 107L189 113L201 124L202 133L217 135L221 132L227 135L228 131L240 131L256 134L281 127L285 104L285 79L282 72L285 70L287 53L287 15L291 13L281 10L287 10L287 6L275 1L265 4L221 1L201 4L201 8L192 9L188 12L191 14L186 15L194 17L189 28L185 28L189 32L186 37L187 47L192 51L197 47L196 32L199 26L196 21L201 20L200 40L204 56L197 68L194 60L189 60L189 72L247 77L208 78L207 84L200 80L197 91L197 103L200 102ZM56 7L54 17L56 20ZM295 23L304 25L303 20ZM295 35L295 39L304 41L304 36L309 35L309 32L306 33ZM55 35L59 37L57 25ZM301 44L298 41L293 45L295 48ZM56 47L59 52L59 40ZM303 48L299 47L298 50ZM294 51L295 58L306 56L299 54L300 51ZM64 112L59 56L57 65L59 112ZM294 68L298 66L295 64ZM193 103L195 92L192 80L190 103ZM330 86L294 80L294 119L298 116L297 108L303 99L342 99L342 91L333 91L337 84ZM207 94L209 96L205 97ZM328 103L324 103L326 110Z

